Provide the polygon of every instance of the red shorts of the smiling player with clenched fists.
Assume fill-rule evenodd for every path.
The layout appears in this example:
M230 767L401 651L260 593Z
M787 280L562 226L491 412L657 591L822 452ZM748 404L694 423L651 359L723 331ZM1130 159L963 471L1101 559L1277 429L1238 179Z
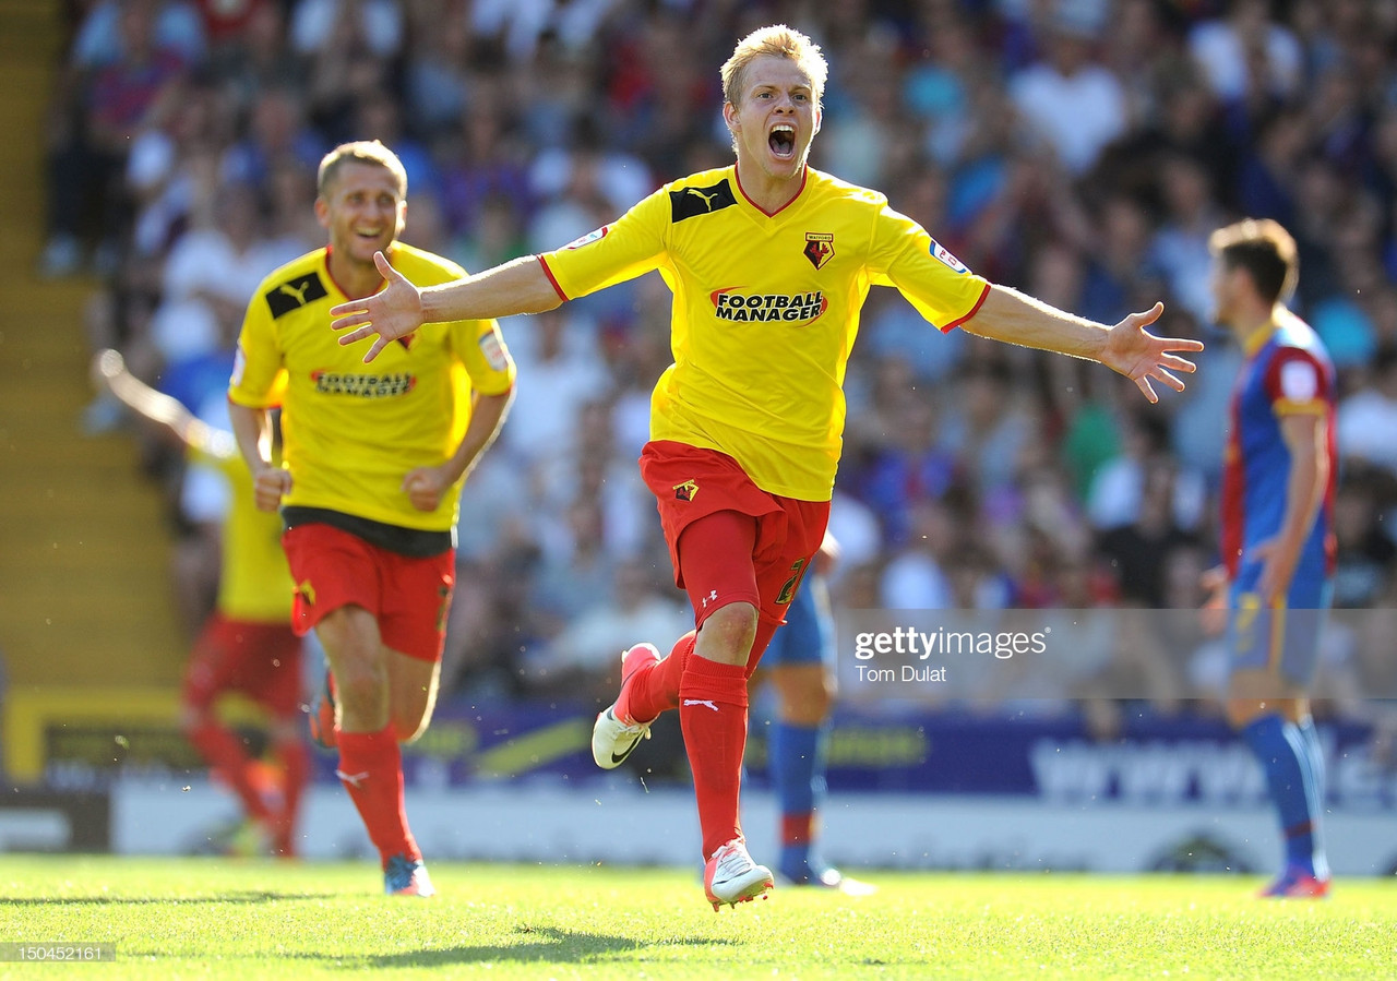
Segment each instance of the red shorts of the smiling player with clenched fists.
M384 646L440 661L455 587L455 552L398 555L328 524L299 524L282 535L296 581L292 626L307 633L341 606L363 606L379 620Z

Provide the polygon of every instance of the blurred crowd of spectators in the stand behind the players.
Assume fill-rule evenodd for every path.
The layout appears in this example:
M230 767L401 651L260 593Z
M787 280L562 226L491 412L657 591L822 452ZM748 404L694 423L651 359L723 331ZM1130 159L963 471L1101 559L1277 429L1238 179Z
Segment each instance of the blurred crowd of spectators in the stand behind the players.
M312 205L328 148L395 150L404 238L485 268L731 162L718 66L785 21L831 66L813 165L884 190L996 282L1104 323L1162 299L1162 333L1208 344L1189 390L1150 407L1099 366L943 337L873 291L848 372L837 605L1199 608L1241 358L1210 324L1207 238L1249 215L1295 235L1295 309L1338 366L1336 605L1397 606L1397 4L70 6L42 271L99 272L94 347L207 418L258 279L324 243ZM634 464L668 310L651 275L506 321L518 397L461 502L447 697L610 692L622 647L690 626ZM102 401L88 411L94 430L117 423ZM147 458L196 620L219 496L159 447ZM1334 646L1344 690L1376 690L1365 672L1390 657L1372 646ZM1208 695L1196 661L1151 682L1161 703ZM1053 697L1130 667L1083 662L1095 674Z

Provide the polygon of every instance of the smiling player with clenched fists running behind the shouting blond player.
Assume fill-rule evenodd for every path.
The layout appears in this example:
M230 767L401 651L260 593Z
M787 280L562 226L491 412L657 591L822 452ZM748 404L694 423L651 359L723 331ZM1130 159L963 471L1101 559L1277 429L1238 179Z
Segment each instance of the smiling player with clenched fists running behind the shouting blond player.
M504 421L514 362L483 317L404 337L373 370L327 330L334 303L383 286L376 259L394 281L419 286L465 275L397 242L407 184L402 164L379 143L344 144L321 161L316 215L330 245L258 286L228 397L257 503L281 507L295 625L316 629L330 662L334 718L320 738L338 746L339 780L379 850L386 892L430 896L398 743L432 717L460 485ZM267 409L277 405L279 467L263 449Z

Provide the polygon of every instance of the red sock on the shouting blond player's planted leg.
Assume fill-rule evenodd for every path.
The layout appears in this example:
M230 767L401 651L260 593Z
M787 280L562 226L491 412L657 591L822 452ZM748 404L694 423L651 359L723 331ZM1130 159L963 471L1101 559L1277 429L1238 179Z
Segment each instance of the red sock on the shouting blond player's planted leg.
M679 685L679 727L694 774L703 858L742 837L738 794L747 745L747 675L740 664L718 664L698 654L685 661Z

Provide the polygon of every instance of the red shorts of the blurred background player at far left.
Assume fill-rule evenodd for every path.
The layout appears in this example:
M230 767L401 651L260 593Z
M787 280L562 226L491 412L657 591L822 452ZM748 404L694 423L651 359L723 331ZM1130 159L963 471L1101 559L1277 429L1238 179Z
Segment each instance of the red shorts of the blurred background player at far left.
M208 618L184 672L184 703L207 711L225 692L246 695L277 718L300 711L300 637L289 623Z

